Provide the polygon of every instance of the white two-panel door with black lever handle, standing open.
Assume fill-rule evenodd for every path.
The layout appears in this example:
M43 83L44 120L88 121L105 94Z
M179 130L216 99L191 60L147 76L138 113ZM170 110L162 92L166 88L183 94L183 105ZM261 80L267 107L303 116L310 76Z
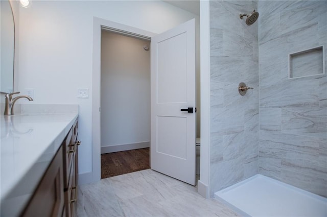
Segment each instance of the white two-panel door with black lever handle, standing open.
M195 185L195 20L151 38L151 168ZM192 108L193 113L181 111Z

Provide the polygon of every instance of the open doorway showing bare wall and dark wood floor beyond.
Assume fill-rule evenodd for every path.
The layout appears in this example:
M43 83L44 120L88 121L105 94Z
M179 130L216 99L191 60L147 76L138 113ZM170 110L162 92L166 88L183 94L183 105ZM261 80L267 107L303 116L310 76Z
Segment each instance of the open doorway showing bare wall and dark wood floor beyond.
M150 39L101 31L101 178L150 168Z

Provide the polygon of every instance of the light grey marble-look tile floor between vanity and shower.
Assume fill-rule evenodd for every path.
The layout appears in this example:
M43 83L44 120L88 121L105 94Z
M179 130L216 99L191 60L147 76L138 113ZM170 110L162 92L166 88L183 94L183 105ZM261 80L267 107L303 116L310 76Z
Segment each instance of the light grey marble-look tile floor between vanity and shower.
M197 188L151 169L80 185L77 216L239 216Z

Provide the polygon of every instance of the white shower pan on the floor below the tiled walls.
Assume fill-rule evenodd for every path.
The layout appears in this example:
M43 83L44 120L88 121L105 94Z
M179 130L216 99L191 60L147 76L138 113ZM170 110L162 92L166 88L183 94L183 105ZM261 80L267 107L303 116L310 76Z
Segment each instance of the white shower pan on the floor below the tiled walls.
M327 216L327 198L257 174L215 193L242 216Z

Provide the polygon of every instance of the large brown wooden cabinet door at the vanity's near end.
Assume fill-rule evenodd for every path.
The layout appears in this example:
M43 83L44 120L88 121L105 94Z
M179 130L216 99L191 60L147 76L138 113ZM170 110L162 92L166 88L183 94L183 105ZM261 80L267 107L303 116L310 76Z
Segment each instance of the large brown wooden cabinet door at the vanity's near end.
M62 216L64 206L62 147L51 162L21 216Z

